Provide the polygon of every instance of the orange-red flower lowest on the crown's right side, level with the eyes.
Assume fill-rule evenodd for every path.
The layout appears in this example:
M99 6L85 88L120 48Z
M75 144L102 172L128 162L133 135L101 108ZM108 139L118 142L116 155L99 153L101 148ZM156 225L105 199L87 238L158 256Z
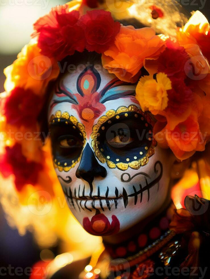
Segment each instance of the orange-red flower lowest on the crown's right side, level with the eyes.
M155 124L155 126L157 125ZM157 132L157 128L154 130L156 131L155 139L160 147L165 148L167 143L174 155L180 160L188 159L195 151L205 150L205 141L199 129L197 113L192 112L184 122L179 123L173 130L170 130L168 124L159 132Z

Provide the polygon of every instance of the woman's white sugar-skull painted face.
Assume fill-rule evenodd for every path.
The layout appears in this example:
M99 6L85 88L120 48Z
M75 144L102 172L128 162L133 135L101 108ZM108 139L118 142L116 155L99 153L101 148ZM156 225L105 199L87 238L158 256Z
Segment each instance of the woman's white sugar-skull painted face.
M48 120L57 177L69 208L94 235L112 235L155 214L168 194L172 162L152 140L153 121L135 85L101 65L61 75Z

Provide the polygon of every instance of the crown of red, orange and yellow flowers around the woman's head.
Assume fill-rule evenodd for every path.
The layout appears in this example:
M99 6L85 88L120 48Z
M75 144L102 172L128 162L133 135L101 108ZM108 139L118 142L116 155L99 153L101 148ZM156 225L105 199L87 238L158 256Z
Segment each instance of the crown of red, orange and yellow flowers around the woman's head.
M87 2L95 8L96 1ZM103 67L120 80L138 82L136 99L143 111L153 114L154 138L162 148L169 147L183 160L204 151L209 142L207 19L195 12L170 38L156 35L149 27L123 26L103 9L85 13L84 5L72 1L40 18L30 43L4 71L7 93L2 93L5 98L0 103L4 134L0 171L5 177L14 175L19 191L27 184L49 185L50 191L49 147L42 144L38 120L48 84L59 75L57 62L85 49L101 54ZM12 140L8 131L24 137ZM27 140L30 133L37 134L36 140Z

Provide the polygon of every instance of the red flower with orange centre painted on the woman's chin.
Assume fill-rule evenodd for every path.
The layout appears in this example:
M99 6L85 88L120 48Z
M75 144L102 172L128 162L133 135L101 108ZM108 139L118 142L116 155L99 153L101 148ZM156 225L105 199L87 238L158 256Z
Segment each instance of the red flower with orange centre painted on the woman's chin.
M112 215L112 223L104 214L97 214L91 218L83 219L84 229L92 235L112 235L120 230L120 222L115 215Z

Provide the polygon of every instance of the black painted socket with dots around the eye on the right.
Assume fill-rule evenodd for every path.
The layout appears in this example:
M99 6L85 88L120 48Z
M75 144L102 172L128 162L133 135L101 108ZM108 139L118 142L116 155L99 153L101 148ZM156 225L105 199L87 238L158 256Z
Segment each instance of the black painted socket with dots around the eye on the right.
M137 112L120 113L99 128L98 148L112 162L140 160L152 145L153 127Z

